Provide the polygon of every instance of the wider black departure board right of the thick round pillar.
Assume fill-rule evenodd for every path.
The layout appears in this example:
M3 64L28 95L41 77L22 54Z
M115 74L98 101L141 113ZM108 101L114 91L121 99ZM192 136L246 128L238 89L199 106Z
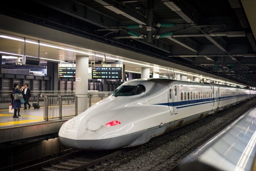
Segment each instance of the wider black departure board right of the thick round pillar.
M95 71L92 70L92 78L123 79L123 64L103 64L100 67L98 66L96 64Z

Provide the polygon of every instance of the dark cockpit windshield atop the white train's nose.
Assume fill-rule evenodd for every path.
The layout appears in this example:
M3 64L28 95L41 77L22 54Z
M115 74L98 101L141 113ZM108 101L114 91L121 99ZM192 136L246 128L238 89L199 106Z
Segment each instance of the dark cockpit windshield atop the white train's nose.
M112 96L134 96L137 94L142 94L146 90L144 85L130 86L124 85L118 87L113 93Z

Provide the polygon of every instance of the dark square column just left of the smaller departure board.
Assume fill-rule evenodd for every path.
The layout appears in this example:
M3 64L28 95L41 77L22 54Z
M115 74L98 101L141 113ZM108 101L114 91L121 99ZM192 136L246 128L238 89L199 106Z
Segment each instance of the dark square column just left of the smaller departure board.
M58 91L58 63L47 61L47 76L50 77L48 81L48 90L49 91Z

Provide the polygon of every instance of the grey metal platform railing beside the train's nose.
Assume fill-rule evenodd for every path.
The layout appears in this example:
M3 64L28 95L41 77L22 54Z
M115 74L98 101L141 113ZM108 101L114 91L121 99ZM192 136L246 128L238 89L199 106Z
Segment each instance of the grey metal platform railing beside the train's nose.
M96 94L42 94L44 99L44 119L62 119L77 116L112 92Z

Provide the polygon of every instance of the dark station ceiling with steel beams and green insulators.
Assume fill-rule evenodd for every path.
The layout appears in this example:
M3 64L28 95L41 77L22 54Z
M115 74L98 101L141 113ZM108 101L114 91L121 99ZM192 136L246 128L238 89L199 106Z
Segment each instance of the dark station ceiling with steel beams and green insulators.
M253 0L28 0L4 2L0 13L256 86L255 7Z

